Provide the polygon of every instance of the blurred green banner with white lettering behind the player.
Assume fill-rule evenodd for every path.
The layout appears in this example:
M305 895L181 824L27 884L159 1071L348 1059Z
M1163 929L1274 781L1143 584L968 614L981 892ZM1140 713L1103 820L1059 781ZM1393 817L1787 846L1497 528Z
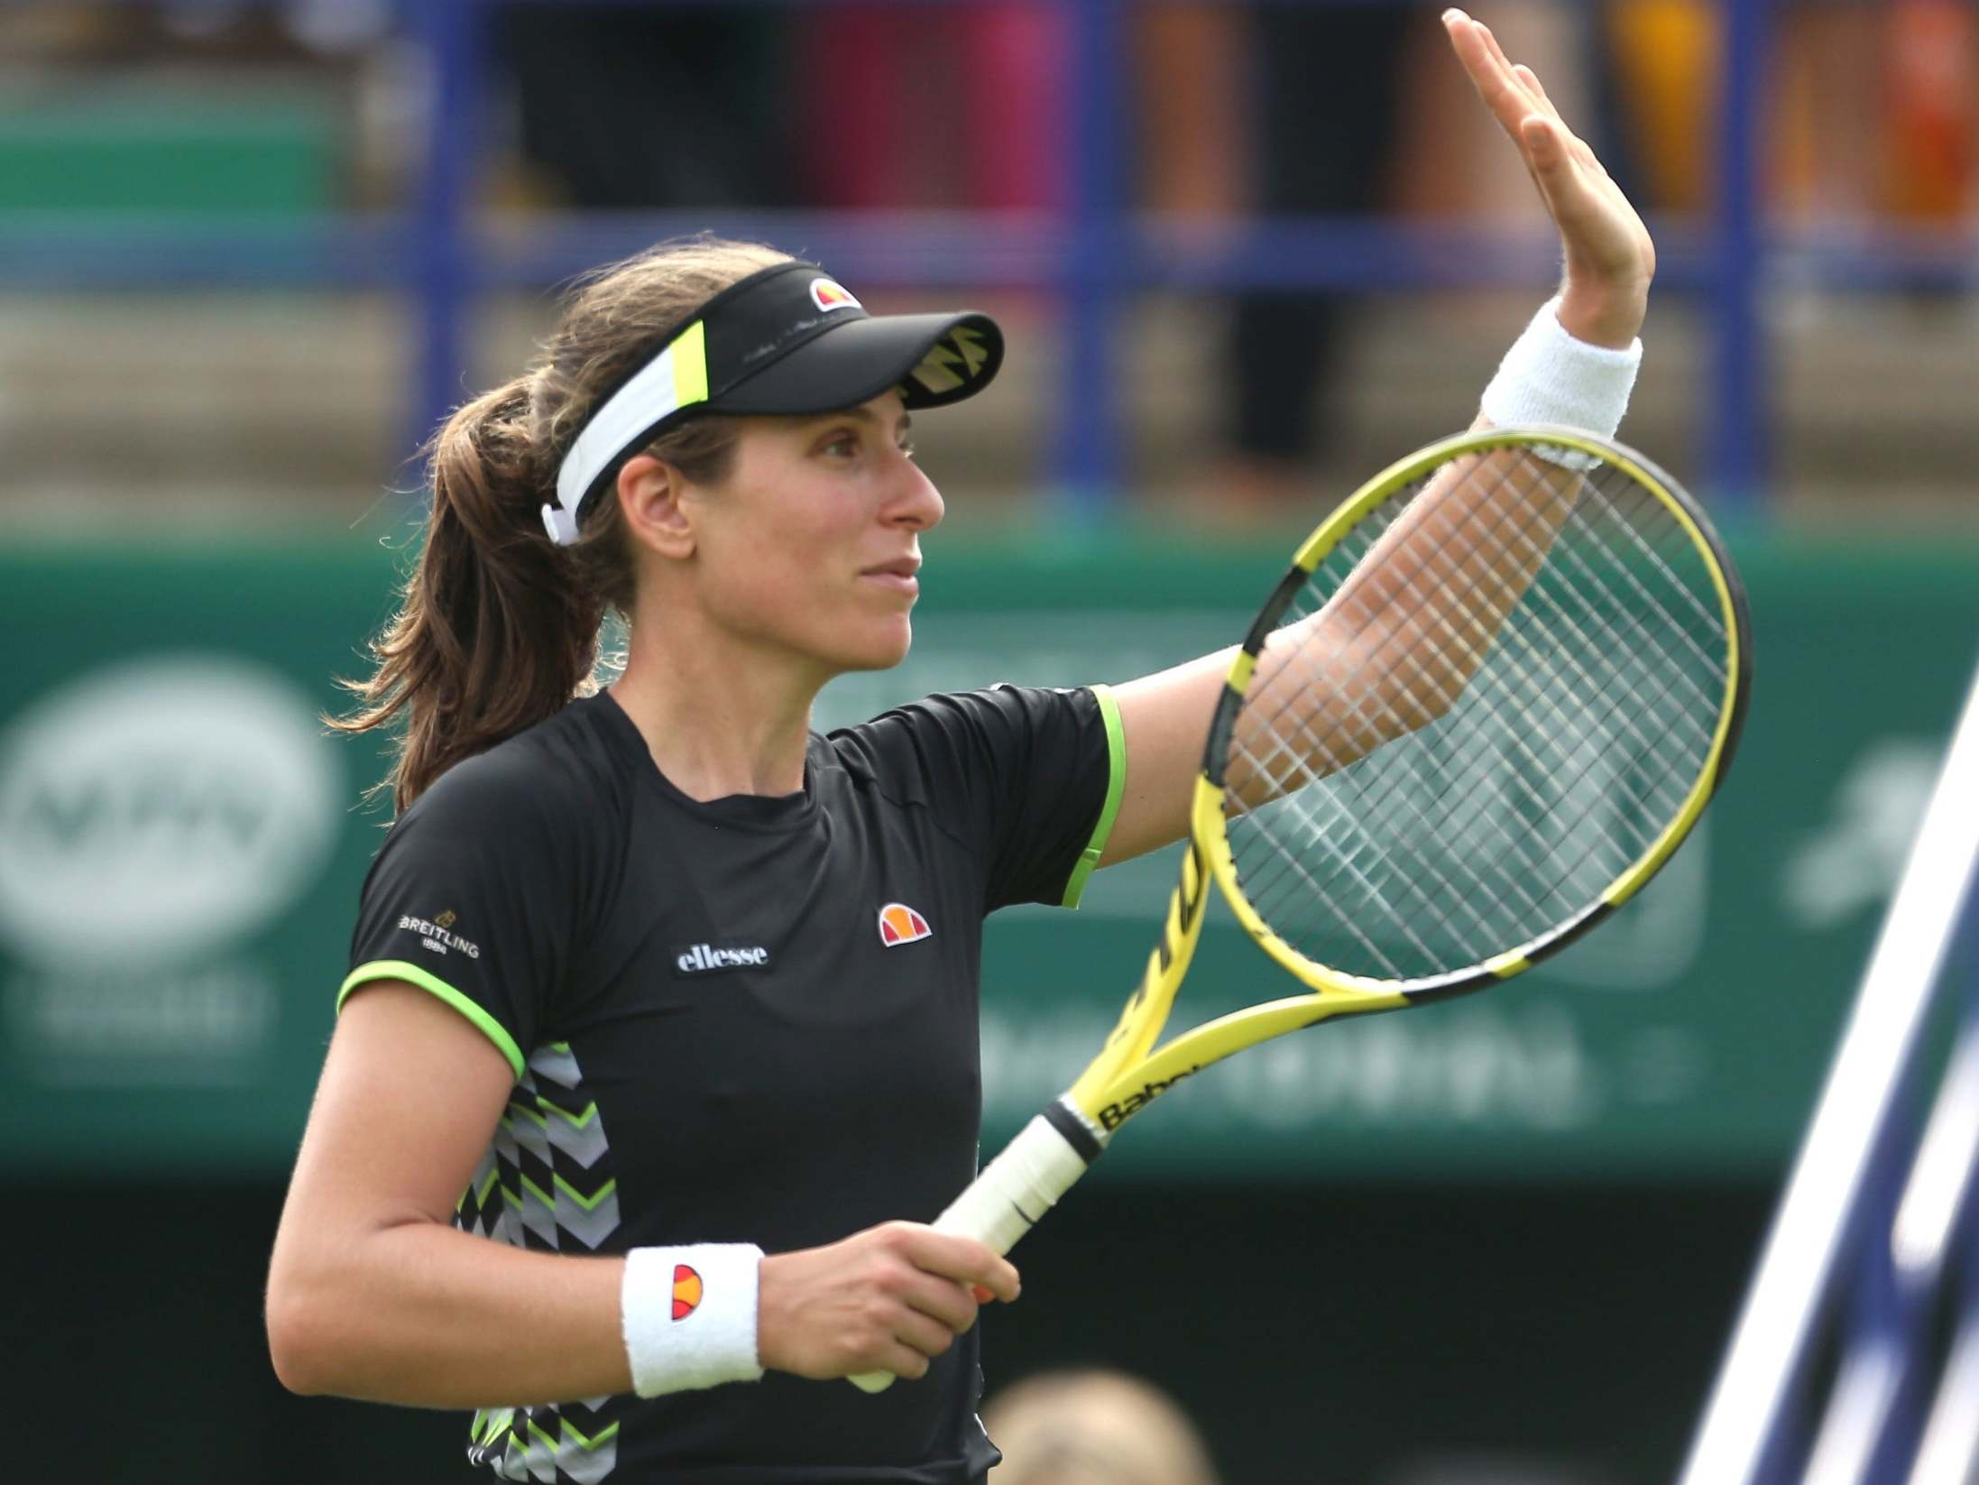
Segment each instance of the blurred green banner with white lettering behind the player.
M1617 921L1480 998L1191 1079L1122 1174L1753 1174L1799 1138L1975 661L1979 548L1738 548L1757 685L1732 780ZM0 1164L277 1172L384 834L327 737L402 558L370 544L0 554ZM912 657L819 725L993 681L1122 681L1229 644L1271 548L932 543ZM991 921L986 1142L1079 1071L1174 859ZM1290 982L1217 905L1176 1028ZM986 1150L988 1152L988 1150Z

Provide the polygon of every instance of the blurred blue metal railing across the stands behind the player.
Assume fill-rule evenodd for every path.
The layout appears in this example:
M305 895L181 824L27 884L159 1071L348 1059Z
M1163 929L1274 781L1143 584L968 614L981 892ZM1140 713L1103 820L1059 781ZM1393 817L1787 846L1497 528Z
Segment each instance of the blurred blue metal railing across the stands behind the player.
M538 0L540 2L540 0ZM621 0L647 6L762 0ZM829 0L782 0L817 4ZM908 0L898 0L906 4ZM928 0L936 2L936 0ZM1039 0L1065 12L1073 50L1071 206L1051 214L639 214L475 222L475 129L483 97L485 22L503 0L400 0L402 24L429 61L420 198L404 214L267 222L73 218L0 220L0 283L216 285L311 283L390 287L416 305L412 346L420 432L465 392L467 323L477 293L538 287L681 232L764 236L827 259L871 287L1041 289L1065 327L1057 396L1049 398L1051 473L1079 509L1122 487L1120 378L1112 348L1132 295L1148 287L1395 291L1530 285L1557 271L1550 232L1486 234L1476 226L1282 218L1205 238L1130 212L1126 190L1126 26L1140 0ZM1280 0L1411 4L1415 0ZM1712 370L1700 378L1704 485L1732 515L1757 509L1767 483L1763 295L1791 269L1797 283L1842 291L1979 285L1979 244L1963 232L1783 234L1761 216L1761 105L1775 0L1718 0L1724 73L1720 164L1708 222L1654 222L1660 293L1708 307ZM1480 127L1484 127L1480 123Z

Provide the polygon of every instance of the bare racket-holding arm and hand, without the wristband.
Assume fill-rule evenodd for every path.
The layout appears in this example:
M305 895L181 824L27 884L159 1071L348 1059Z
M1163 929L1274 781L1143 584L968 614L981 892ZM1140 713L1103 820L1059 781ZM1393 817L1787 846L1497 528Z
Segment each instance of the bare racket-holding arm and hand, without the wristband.
M269 1265L269 1352L287 1388L425 1408L631 1390L623 1259L451 1226L511 1087L503 1053L416 986L380 980L344 1006ZM1015 1299L1017 1271L906 1222L766 1257L758 1358L817 1378L922 1376L976 1321L970 1285Z

